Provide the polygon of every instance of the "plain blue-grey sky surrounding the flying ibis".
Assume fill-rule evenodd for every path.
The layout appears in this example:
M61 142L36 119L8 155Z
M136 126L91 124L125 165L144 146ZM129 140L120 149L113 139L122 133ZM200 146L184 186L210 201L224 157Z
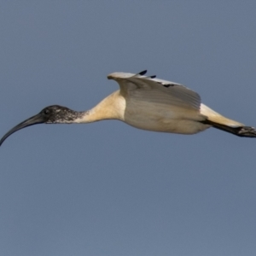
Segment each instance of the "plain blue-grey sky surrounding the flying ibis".
M256 125L255 1L1 1L1 136L92 108L148 69ZM35 125L0 148L0 255L256 255L256 140L119 121Z

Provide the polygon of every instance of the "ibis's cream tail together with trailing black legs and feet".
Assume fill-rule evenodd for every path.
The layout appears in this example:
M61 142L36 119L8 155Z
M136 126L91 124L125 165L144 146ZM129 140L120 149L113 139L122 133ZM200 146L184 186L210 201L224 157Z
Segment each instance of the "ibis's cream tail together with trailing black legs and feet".
M207 117L206 120L202 121L203 124L211 125L214 128L230 132L239 137L256 137L256 129L254 127L245 126L235 120L227 119L204 104L201 104L201 113Z

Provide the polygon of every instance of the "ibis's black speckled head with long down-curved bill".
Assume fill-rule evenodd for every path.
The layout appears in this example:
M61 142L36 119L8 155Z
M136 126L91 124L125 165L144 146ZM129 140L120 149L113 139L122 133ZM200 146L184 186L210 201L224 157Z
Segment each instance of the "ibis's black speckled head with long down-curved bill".
M29 119L16 125L13 129L8 131L0 141L0 146L4 140L9 137L15 131L19 131L27 126L37 125L37 124L71 124L75 119L81 117L81 113L73 111L66 107L61 107L58 105L49 106L44 108L38 114L32 116Z

